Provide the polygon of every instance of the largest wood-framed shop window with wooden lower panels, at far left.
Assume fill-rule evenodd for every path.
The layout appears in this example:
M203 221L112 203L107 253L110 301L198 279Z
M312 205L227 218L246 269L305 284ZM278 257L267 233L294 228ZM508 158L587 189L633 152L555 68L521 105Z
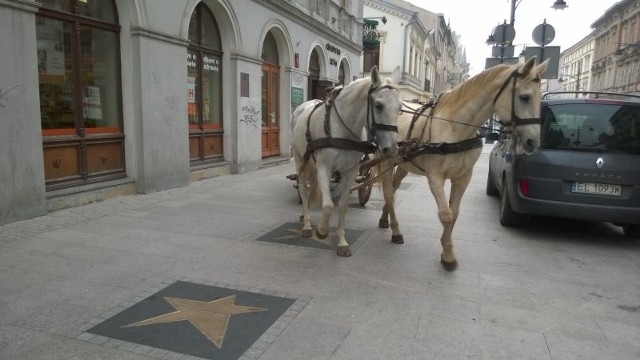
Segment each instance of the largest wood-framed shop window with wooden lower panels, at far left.
M36 53L47 189L124 177L115 5L41 2Z

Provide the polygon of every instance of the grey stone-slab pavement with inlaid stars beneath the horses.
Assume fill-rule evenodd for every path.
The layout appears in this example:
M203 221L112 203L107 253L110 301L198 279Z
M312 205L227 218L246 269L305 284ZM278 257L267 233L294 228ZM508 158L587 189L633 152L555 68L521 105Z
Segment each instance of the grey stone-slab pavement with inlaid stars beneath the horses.
M0 359L640 359L640 242L501 227L490 146L453 272L417 176L397 195L403 245L377 227L377 188L352 194L350 258L299 237L288 163L1 226Z

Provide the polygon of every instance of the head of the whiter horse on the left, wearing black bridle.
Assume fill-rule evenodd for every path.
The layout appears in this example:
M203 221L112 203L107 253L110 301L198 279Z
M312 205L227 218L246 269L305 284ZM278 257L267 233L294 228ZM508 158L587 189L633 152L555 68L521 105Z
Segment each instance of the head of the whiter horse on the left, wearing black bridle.
M382 78L378 67L371 69L371 87L367 101L367 128L369 137L378 145L382 157L398 153L398 116L402 103L396 85L400 78L400 67L392 76Z

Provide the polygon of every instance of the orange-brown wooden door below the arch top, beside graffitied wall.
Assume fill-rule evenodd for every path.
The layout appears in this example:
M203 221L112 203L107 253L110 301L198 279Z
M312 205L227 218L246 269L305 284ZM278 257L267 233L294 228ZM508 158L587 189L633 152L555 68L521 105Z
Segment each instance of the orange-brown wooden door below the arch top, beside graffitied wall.
M280 68L262 65L262 157L280 155Z

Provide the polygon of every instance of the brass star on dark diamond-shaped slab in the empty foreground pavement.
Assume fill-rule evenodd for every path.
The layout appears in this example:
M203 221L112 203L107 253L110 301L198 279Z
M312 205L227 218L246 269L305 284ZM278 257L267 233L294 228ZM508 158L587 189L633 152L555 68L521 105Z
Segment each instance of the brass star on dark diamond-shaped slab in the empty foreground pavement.
M87 332L205 359L237 359L294 301L178 281Z

